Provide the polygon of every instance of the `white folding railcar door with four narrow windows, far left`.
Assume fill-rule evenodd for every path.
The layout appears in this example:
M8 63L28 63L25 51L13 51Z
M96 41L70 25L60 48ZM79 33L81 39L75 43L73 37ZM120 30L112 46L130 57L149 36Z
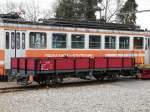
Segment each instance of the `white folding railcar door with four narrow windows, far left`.
M25 56L25 31L5 30L5 69L10 69L12 57Z

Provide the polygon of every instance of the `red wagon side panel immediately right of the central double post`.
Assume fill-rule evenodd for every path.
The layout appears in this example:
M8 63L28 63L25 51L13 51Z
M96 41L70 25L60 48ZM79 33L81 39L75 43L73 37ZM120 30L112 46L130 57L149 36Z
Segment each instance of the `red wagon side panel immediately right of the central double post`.
M104 57L95 58L95 69L107 68L107 59Z

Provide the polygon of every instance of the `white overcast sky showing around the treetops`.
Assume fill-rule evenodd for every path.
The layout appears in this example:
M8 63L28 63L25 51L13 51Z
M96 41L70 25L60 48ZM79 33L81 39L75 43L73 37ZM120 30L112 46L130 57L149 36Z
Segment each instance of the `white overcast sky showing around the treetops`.
M6 0L0 0L1 2L4 2ZM9 0L8 0L9 1ZM11 1L15 1L15 2L28 2L30 0L11 0ZM56 0L35 0L37 3L40 4L41 8L52 8L55 3ZM146 10L146 9L150 9L150 0L136 0L138 3L138 10ZM137 14L137 24L141 25L142 28L148 28L150 29L150 12L146 12L146 13L139 13Z

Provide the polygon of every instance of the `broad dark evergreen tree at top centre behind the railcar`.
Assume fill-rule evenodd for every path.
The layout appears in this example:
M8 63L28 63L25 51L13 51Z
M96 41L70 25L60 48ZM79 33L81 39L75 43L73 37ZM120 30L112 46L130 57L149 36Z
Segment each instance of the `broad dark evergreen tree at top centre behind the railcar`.
M97 0L60 0L56 9L56 18L96 20Z

